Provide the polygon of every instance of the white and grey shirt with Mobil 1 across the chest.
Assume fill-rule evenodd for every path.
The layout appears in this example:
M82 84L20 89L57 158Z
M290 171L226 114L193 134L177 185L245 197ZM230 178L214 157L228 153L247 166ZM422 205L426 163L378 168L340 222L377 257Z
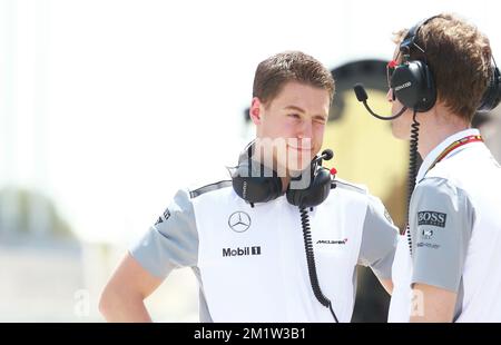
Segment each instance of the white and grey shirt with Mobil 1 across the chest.
M397 230L364 188L336 186L308 214L320 286L350 322L356 265L390 278ZM191 267L202 322L333 322L312 290L299 210L285 196L250 207L230 181L180 190L130 253L158 277Z

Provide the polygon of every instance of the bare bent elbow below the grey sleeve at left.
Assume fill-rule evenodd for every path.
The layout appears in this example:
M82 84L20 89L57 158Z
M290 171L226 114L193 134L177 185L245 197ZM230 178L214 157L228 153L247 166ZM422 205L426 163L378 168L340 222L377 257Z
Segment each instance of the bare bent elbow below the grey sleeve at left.
M144 300L161 282L127 254L101 294L99 310L108 322L151 322Z

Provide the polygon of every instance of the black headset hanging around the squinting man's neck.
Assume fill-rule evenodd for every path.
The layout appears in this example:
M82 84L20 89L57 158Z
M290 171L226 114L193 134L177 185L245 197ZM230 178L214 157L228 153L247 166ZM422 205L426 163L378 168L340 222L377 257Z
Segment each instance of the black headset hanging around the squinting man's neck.
M284 193L282 178L275 170L253 160L253 151L254 141L240 154L238 166L232 174L232 181L235 193L254 207L255 203L272 201ZM332 188L332 176L328 169L322 167L322 159L331 159L332 151L328 150L327 154L326 151L313 159L308 166L311 178L307 188L294 189L291 185L287 187L285 194L289 204L298 207L314 207L327 198ZM301 180L303 174L293 179Z

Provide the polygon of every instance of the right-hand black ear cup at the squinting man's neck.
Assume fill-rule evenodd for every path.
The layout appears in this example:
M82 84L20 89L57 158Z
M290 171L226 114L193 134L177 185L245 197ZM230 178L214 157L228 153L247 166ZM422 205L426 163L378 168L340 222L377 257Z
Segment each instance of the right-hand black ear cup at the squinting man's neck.
M331 191L331 171L318 167L313 172L310 187L305 189L287 189L287 201L298 207L314 207L322 204Z

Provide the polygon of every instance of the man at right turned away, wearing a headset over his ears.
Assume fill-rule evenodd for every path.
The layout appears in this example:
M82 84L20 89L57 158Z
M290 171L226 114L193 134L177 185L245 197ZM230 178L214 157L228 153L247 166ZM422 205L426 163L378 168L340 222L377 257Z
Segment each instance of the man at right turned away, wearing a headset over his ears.
M501 322L501 167L471 128L475 111L500 98L489 40L442 13L395 42L387 100L393 114L407 110L392 131L413 138L423 162L393 264L389 321Z

